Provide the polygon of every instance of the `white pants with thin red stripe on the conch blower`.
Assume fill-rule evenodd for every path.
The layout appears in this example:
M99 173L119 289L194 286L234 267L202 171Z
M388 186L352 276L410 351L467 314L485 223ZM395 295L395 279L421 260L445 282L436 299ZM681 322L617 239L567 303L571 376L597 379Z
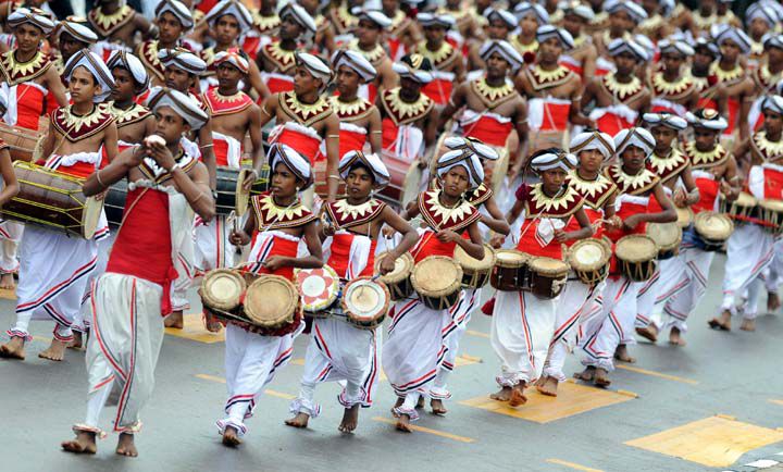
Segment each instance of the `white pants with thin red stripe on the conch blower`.
M92 335L87 343L87 418L75 430L99 433L112 389L120 392L114 431L137 433L152 395L163 343L163 288L130 275L107 273L95 283Z

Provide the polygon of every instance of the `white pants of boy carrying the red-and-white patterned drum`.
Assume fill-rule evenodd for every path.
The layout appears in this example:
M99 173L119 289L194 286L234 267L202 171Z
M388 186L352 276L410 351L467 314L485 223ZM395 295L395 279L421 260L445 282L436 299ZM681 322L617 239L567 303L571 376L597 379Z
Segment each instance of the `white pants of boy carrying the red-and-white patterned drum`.
M316 418L321 406L314 401L315 385L330 381L346 381L337 397L343 407L365 406L365 386L377 377L376 370L370 369L375 359L374 332L355 327L340 315L313 320L301 388L290 412Z

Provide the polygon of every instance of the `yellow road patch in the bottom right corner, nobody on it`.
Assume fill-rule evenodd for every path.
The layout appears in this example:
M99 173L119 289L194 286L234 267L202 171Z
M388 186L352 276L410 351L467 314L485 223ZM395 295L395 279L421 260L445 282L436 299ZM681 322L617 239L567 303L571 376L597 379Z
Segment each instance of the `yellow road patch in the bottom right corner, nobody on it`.
M732 465L744 454L781 440L783 432L710 417L625 444L707 467L724 468Z

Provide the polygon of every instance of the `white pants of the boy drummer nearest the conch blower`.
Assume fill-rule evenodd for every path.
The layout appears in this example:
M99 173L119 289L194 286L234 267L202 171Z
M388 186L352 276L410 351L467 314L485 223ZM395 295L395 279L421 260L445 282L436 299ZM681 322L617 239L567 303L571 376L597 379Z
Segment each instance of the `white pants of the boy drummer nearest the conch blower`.
M233 426L241 436L247 433L245 419L252 417L256 400L294 352L294 338L304 328L285 336L262 336L228 324L225 330L225 369L228 400L226 418L217 421L220 434Z

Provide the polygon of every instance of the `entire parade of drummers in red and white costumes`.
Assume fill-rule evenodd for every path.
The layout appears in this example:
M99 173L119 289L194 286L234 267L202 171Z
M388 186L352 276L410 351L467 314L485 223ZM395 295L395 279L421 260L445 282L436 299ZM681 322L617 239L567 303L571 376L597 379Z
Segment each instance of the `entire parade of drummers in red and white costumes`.
M286 424L337 381L350 433L382 370L397 430L446 414L478 311L514 408L557 396L570 352L606 387L635 335L684 346L717 251L697 322L754 331L783 283L783 8L743 28L730 5L2 3L0 357L53 325L39 357L86 349L89 385L62 448L96 452L111 397L136 456L191 288L225 333L226 446L299 335Z

